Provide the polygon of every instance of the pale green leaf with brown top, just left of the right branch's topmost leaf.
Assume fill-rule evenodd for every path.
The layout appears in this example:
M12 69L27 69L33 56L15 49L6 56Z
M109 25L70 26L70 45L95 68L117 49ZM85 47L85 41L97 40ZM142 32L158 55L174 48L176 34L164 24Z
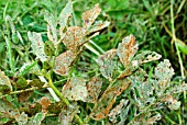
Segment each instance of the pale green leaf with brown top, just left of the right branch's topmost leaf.
M116 68L116 56L117 50L111 49L106 52L103 55L101 55L98 59L98 65L100 67L100 72L106 79L109 79L109 81L112 80L112 72Z

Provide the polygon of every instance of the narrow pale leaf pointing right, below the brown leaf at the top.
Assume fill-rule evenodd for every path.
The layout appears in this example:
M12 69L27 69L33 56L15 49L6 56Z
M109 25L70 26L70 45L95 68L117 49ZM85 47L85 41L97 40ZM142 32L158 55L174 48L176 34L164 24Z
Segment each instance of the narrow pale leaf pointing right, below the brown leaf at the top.
M90 30L88 30L88 34L97 32L99 30L102 30L102 29L107 27L109 24L110 24L110 22L108 22L108 21L106 21L106 22L98 21L90 27Z

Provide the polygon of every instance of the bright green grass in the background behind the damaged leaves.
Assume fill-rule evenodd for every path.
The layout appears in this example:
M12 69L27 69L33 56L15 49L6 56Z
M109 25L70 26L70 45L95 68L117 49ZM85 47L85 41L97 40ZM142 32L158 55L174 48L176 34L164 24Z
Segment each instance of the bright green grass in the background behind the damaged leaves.
M66 0L0 0L0 69L6 75L11 78L18 73L23 60L34 60L34 56L30 53L28 31L42 33L43 39L46 41L44 11L48 10L57 18L66 2ZM95 3L99 3L102 9L99 19L110 21L110 25L86 44L87 49L80 58L84 63L77 64L77 68L84 72L84 67L87 66L97 72L96 66L89 63L96 63L98 55L117 48L124 36L133 34L140 44L140 52L153 50L170 60L175 69L173 83L187 82L186 0L75 0L74 20L70 24L80 25L81 13L92 8ZM7 15L10 15L12 21ZM10 26L12 22L15 27ZM14 29L18 32L14 32ZM91 73L88 72L88 76ZM77 72L77 76L82 75ZM25 78L32 79L34 76L25 76ZM56 82L65 79L58 76L52 76L52 78ZM64 82L56 84L61 88ZM45 92L45 89L42 92ZM168 109L160 111L162 120L157 124L186 124L186 92L178 95L178 99L182 101L180 109L172 112L168 112ZM84 104L80 105L84 106ZM133 109L131 112L133 114Z

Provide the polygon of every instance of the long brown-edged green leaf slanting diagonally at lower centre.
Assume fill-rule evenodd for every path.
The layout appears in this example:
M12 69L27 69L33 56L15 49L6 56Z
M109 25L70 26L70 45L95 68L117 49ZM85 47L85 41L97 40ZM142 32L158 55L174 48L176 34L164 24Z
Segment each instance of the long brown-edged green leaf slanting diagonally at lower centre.
M105 91L102 96L99 99L97 106L92 110L91 117L96 121L108 116L113 103L118 95L120 95L130 84L129 78L117 80L116 83L108 90Z

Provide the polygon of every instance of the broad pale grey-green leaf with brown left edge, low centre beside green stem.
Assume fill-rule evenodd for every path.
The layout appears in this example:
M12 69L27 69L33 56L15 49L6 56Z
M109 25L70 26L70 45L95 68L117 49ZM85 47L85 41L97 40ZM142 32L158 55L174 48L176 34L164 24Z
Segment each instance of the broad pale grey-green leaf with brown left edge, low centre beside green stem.
M68 100L85 101L88 94L85 79L73 77L63 87L62 92L63 92L63 95L67 98Z

